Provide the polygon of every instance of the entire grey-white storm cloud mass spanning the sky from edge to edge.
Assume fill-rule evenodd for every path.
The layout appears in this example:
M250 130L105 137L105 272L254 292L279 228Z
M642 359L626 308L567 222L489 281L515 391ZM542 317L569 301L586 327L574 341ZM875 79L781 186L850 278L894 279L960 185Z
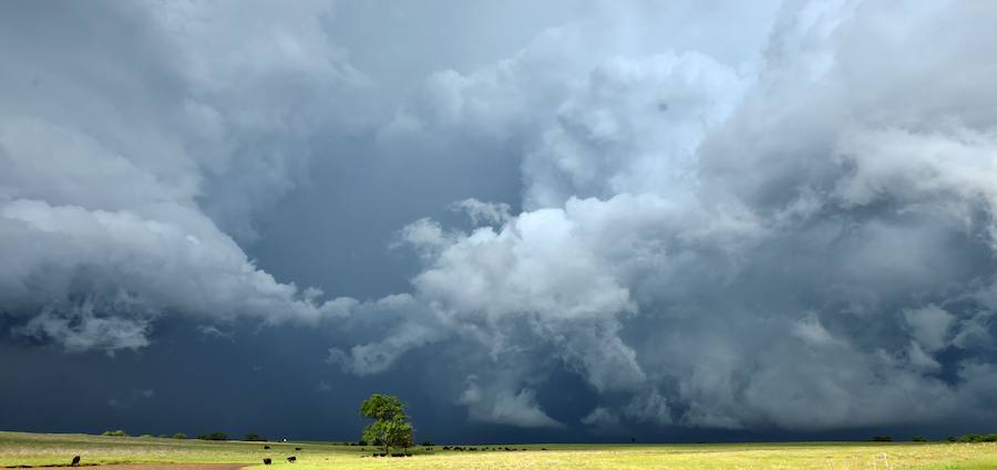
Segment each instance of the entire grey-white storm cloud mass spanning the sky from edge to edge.
M110 352L164 315L297 322L360 376L446 353L441 399L486 424L993 420L997 8L615 3L384 76L320 4L101 3L38 44L6 21L3 314ZM243 246L327 134L507 154L522 200L414 215L410 292L326 301ZM562 373L577 420L545 411Z

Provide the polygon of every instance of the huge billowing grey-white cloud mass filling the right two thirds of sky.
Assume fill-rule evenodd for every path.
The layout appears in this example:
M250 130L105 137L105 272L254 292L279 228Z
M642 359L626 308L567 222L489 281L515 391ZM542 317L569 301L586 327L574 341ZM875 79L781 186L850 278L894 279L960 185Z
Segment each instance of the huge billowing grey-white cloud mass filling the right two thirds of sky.
M969 31L995 15L788 2L759 55L734 60L588 43L578 23L431 76L413 132L523 155L522 213L403 231L424 263L414 297L461 338L439 347L530 364L459 403L503 421L482 390L536 409L515 390L562 368L599 397L590 426L969 419L994 390L968 370L990 367L979 289L997 274L979 261L995 249L993 51ZM980 340L943 357L957 328ZM967 372L939 375L953 368Z

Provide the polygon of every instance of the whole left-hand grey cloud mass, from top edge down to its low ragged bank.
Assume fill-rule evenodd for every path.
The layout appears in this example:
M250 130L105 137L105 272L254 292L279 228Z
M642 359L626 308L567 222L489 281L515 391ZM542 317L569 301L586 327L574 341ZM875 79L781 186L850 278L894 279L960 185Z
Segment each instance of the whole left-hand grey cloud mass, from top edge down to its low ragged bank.
M0 302L16 334L135 349L167 314L341 313L349 300L322 304L238 244L294 187L301 143L341 116L329 103L368 86L328 42L327 7L50 7L2 14L0 54L20 64L0 73ZM22 41L39 21L58 38Z

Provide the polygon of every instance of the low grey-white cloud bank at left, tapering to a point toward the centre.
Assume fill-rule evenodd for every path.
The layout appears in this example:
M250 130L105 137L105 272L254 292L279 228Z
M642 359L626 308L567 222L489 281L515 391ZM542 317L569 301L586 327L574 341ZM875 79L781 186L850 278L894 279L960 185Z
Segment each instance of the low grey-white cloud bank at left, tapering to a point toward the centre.
M315 324L341 315L352 303L340 299L318 304L294 284L275 281L193 208L165 203L112 212L18 199L0 206L0 216L6 227L0 238L7 246L22 247L4 267L8 309L40 309L50 320L56 311L76 312L72 315L84 324L102 325L101 344L112 348L114 338L121 346L143 345L136 336L147 330L147 321L171 309L213 320L238 314ZM88 300L76 305L76 296ZM140 323L96 323L95 311L133 316ZM109 330L114 326L129 327L114 333ZM62 340L86 333L29 330L59 332Z

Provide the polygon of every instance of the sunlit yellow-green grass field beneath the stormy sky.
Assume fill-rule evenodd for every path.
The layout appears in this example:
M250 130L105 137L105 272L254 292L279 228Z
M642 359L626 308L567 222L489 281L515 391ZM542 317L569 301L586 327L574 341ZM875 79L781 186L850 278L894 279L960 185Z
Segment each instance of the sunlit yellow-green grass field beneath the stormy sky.
M526 451L433 451L373 458L371 447L328 443L214 442L161 438L0 432L0 467L97 463L219 463L253 470L318 469L997 469L997 443L530 445ZM302 447L295 451L295 447ZM475 446L477 448L484 446ZM493 446L487 446L493 447ZM504 447L504 446L502 446ZM510 446L512 447L512 446ZM541 450L546 448L547 450ZM284 458L295 455L297 463ZM275 464L264 467L271 457ZM292 467L291 467L292 466Z

